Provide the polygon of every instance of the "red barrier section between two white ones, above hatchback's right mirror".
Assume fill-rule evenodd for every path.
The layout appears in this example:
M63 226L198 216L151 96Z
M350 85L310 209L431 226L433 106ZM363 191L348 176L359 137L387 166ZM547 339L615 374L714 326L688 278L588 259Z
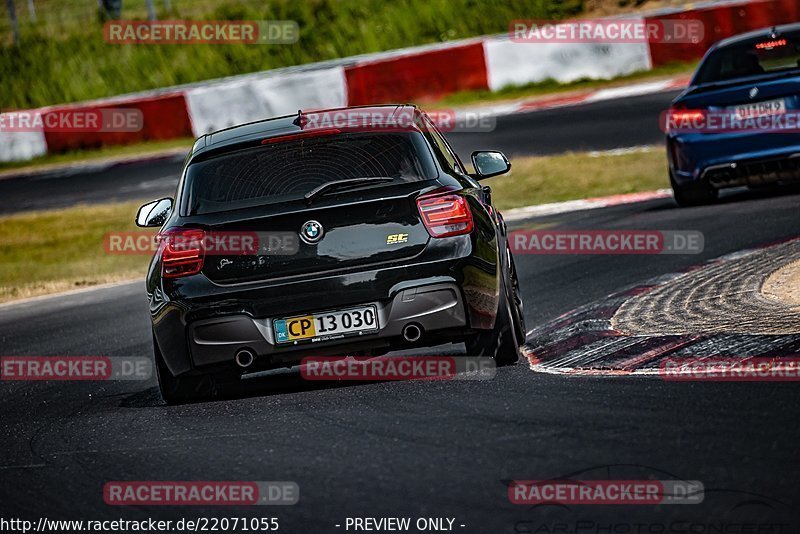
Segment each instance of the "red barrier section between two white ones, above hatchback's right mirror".
M480 42L356 64L345 75L351 106L435 100L489 88Z

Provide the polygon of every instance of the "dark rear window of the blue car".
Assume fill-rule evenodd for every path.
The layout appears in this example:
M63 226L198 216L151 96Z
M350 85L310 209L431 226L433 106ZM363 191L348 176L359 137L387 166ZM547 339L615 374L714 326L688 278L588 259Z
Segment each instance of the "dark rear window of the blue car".
M800 68L800 33L760 37L722 47L706 58L696 85Z

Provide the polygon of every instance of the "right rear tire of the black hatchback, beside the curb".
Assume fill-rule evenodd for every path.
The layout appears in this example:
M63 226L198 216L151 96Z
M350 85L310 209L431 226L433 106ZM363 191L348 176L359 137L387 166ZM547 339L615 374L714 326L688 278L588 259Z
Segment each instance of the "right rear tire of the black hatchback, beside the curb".
M466 343L468 356L491 357L498 367L517 363L519 360L517 331L525 330L524 323L520 326L519 321L514 320L511 299L509 299L509 293L512 292L511 284L505 274L501 280L503 286L500 291L494 328L475 334Z

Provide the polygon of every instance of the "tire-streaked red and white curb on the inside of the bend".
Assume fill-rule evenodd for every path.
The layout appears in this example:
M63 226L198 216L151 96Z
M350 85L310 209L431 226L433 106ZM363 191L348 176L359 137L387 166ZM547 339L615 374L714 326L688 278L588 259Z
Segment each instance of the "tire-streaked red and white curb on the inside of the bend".
M535 372L610 376L658 375L665 358L796 356L800 310L760 287L798 255L795 239L658 277L532 330L523 354Z

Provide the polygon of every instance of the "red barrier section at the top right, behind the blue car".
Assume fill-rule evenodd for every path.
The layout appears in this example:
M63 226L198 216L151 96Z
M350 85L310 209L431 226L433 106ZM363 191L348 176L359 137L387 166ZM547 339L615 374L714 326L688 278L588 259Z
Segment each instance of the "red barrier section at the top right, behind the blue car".
M720 39L776 24L796 22L798 14L800 14L798 0L763 0L647 17L645 20L648 22L700 20L705 28L702 41L696 44L651 42L650 57L654 67L674 61L695 61L703 57L711 45Z

